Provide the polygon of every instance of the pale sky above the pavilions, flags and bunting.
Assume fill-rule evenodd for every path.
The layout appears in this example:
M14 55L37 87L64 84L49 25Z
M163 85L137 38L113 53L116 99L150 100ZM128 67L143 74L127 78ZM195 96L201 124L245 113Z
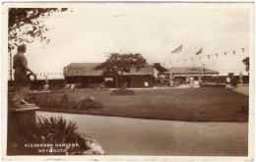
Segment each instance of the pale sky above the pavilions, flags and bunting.
M249 3L70 5L72 12L43 19L50 42L34 41L26 56L34 73L62 73L70 63L100 63L108 53L131 52L166 68L204 64L220 75L246 75L241 60L252 55L252 9ZM181 44L182 51L172 54ZM195 55L202 47L203 53Z

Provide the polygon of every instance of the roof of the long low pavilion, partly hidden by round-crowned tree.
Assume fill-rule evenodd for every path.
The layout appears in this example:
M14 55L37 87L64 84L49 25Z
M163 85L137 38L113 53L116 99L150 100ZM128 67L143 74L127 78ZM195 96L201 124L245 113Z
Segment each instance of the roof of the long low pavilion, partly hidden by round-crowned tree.
M96 71L97 65L100 63L71 63L64 68L64 76L102 76L102 71ZM146 65L145 68L142 68L140 71L131 70L130 73L124 73L124 76L145 76L145 75L154 75L153 68L150 65Z

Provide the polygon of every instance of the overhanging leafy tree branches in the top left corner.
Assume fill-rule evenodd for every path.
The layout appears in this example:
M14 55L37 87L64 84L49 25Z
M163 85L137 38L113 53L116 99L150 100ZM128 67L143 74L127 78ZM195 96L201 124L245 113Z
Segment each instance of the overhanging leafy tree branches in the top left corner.
M12 80L12 50L18 45L32 43L34 40L49 39L44 35L49 28L45 27L42 18L54 12L64 12L67 8L10 8L8 12L8 52L10 54L10 74Z

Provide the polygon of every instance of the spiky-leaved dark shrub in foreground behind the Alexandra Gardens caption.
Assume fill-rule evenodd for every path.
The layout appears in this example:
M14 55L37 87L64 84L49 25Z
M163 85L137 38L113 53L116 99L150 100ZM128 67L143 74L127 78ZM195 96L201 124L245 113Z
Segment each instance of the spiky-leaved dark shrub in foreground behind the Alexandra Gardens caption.
M28 126L19 136L18 148L22 151L22 154L86 154L86 152L92 152L92 144L89 144L92 142L95 142L98 146L97 149L99 149L99 151L93 150L95 154L104 153L96 140L77 131L78 127L75 122L67 122L62 117L47 119L37 116L36 118L35 126ZM37 144L39 146L27 147L26 144ZM58 151L39 152L38 150L42 148Z

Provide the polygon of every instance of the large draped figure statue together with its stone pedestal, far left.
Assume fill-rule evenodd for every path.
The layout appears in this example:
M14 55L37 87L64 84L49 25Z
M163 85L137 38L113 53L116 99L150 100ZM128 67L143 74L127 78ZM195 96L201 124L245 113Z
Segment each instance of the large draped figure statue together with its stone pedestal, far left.
M8 150L15 150L19 135L35 124L35 110L39 107L25 100L25 94L30 91L30 76L36 80L36 75L28 67L25 57L26 45L18 46L18 53L13 58L14 92L8 106ZM30 73L30 75L28 75ZM13 152L13 151L11 151ZM7 153L10 153L7 152Z

